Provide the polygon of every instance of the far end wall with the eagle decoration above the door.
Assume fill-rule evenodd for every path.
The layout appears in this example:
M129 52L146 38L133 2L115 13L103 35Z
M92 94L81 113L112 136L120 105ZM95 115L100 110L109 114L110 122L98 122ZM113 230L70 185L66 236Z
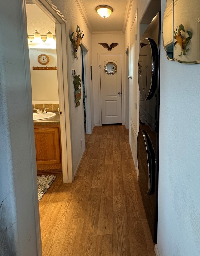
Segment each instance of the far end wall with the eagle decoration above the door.
M107 43L108 45L112 43L119 43L118 46L113 48L113 50L108 51L99 43ZM100 91L100 77L99 77L99 54L103 55L115 55L115 54L123 54L122 55L122 72L125 72L125 53L124 53L124 35L123 34L92 34L92 56L93 56L93 97L94 97L94 123L95 126L99 126L101 124L101 116L99 111L101 110L101 102L99 100L99 91ZM124 65L123 65L124 63ZM122 76L122 92L124 88L124 79ZM123 104L123 102L122 102ZM124 123L124 121L123 121Z

